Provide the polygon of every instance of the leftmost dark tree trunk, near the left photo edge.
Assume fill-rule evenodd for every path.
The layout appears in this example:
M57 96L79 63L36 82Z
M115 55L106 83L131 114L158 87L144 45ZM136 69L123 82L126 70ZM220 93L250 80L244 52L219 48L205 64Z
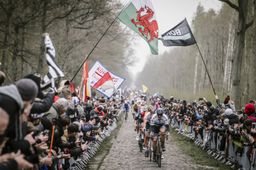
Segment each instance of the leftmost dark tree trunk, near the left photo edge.
M11 36L11 19L12 19L12 13L7 13L7 21L5 25L5 40L3 45L4 48L3 48L3 57L2 57L2 65L5 68L6 72L8 72L8 58L9 58L9 47L10 47L10 36Z

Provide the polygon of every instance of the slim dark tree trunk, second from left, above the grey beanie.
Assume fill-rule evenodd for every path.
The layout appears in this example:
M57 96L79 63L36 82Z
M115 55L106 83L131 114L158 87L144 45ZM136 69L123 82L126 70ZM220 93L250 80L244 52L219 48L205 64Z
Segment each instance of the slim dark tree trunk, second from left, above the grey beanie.
M17 19L15 20L15 23L17 23ZM17 67L17 55L18 55L18 33L19 28L18 26L15 26L15 38L14 38L14 44L13 44L13 55L12 55L12 82L16 82L18 80L18 67Z

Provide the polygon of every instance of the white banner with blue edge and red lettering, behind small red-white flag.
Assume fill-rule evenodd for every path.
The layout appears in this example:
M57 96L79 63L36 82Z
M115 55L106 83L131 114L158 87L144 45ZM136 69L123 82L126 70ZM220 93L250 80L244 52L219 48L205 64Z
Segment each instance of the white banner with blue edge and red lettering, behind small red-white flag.
M90 86L94 86L95 83L97 83L102 76L106 74L109 70L106 69L98 60L95 62L95 64L92 66L92 68L89 71L89 79L90 79ZM110 72L110 76L113 79L114 86L116 89L118 89L123 81L125 80L124 78L121 78L112 72ZM108 90L102 90L101 87L97 88L99 92L104 94L106 97L111 98L113 95L113 89L108 89Z

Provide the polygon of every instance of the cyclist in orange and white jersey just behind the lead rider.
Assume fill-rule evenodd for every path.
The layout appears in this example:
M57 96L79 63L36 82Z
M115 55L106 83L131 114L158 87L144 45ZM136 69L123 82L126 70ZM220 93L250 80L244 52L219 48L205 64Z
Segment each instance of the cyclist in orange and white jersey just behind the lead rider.
M145 114L145 117L144 117L144 128L143 130L145 131L145 157L148 156L148 149L147 149L147 145L148 145L148 134L149 134L149 130L150 130L150 122L151 122L151 118L152 116L155 114L156 112L156 108L153 107L153 106L148 106L148 110L150 112L146 113Z

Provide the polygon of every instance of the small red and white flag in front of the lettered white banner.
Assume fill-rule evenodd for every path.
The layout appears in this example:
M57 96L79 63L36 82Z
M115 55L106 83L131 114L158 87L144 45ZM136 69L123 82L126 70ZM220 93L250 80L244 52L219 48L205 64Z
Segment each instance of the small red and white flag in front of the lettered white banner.
M102 90L108 90L108 89L114 88L113 93L116 92L116 87L114 86L114 82L110 76L109 71L106 72L106 74L102 76L102 78L97 83L95 83L93 88L97 89L99 86L101 86Z

